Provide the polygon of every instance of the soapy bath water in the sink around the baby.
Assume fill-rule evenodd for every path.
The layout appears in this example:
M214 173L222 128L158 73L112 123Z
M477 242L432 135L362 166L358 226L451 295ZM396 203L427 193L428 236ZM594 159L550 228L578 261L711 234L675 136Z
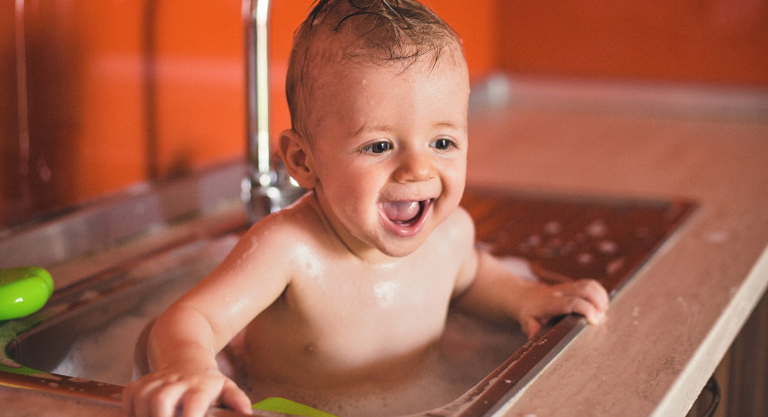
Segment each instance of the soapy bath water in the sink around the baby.
M74 309L65 320L25 333L12 356L31 368L124 386L136 376L134 346L147 323L212 271L236 242L237 235L228 235L131 265L108 280L119 283L117 288L105 284L100 290L82 291L68 302L84 307ZM369 406L376 402L372 409L382 415L402 415L443 406L472 389L525 342L518 328L502 328L452 312L442 342L408 385L390 386L386 392L372 385L336 397L324 408L339 412L341 407L354 415L362 412L357 404L371 410ZM237 366L223 356L220 359L234 373ZM272 388L254 389L253 400L290 397Z

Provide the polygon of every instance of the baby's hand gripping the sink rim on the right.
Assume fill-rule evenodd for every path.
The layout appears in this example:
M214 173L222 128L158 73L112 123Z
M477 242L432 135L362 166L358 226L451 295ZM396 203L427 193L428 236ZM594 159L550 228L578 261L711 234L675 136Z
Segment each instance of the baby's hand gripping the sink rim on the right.
M591 279L561 282L560 284L535 284L522 295L523 305L518 320L523 332L532 339L541 327L554 317L576 313L586 317L589 323L599 323L608 308L608 293Z

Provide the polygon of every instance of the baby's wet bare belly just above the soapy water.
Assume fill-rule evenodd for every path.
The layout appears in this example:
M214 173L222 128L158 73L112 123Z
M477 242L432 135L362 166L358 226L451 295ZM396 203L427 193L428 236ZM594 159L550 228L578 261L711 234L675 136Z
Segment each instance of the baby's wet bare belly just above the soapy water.
M254 320L245 333L243 360L250 379L308 389L409 378L419 372L444 327L444 320L432 317L414 317L408 324L369 320L322 329L283 320L278 325L270 318Z

